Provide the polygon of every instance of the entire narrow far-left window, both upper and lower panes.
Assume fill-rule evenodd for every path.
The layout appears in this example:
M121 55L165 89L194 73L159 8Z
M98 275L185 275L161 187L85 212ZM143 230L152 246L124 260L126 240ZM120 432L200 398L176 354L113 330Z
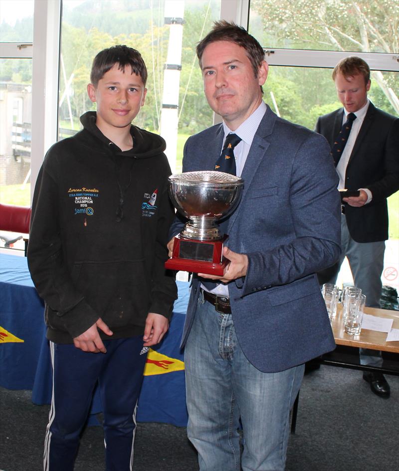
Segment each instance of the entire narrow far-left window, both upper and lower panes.
M0 5L0 201L30 204L33 0Z

